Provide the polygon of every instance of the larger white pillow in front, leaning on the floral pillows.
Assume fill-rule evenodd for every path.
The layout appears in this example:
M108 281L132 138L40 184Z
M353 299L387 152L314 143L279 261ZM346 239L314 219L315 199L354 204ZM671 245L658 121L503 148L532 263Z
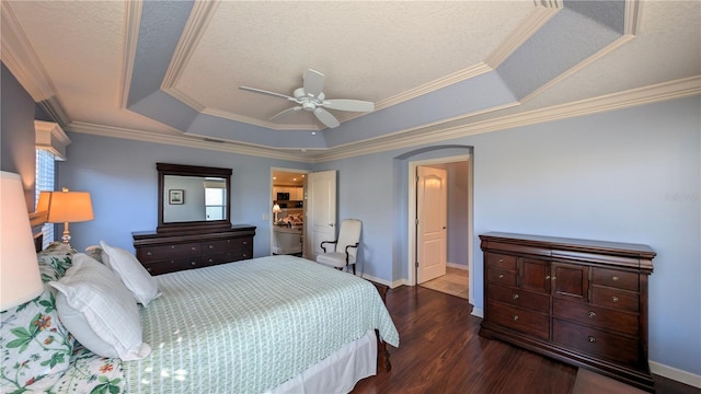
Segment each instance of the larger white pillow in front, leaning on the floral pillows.
M139 309L110 268L77 253L66 275L49 285L58 290L58 317L85 348L125 361L151 352L142 339Z

